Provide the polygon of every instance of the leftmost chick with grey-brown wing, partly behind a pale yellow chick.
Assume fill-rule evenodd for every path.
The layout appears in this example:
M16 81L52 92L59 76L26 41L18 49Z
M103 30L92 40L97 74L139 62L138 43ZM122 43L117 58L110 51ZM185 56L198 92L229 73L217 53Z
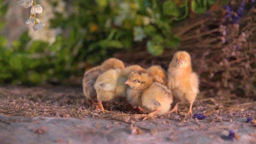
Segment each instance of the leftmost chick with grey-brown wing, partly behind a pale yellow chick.
M83 94L89 99L91 99L92 102L97 102L97 94L94 88L94 83L96 82L98 76L105 71L111 69L111 68L121 68L123 69L124 63L116 58L109 58L105 60L101 65L92 68L89 71L85 71L85 74L83 75Z

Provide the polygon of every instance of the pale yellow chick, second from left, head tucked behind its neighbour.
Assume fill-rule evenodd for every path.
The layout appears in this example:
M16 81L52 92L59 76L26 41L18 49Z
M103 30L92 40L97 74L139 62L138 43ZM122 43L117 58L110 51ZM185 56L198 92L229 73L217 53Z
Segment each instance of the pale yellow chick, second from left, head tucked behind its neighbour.
M119 97L125 97L127 80L129 74L132 71L144 70L139 65L131 65L124 69L112 69L101 74L95 82L94 88L96 89L98 105L101 111L109 112L104 110L102 101L112 101Z

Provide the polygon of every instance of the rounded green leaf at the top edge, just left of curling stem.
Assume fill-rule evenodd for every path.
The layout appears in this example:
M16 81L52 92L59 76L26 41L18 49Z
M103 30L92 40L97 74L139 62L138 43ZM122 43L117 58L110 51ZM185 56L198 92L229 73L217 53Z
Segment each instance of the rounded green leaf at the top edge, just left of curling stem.
M163 13L165 15L171 15L175 17L180 16L179 9L173 0L167 0L163 3Z

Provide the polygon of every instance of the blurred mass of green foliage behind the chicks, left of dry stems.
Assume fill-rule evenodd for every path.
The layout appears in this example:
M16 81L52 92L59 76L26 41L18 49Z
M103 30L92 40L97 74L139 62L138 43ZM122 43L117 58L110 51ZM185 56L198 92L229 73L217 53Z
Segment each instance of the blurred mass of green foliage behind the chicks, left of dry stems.
M188 9L205 12L215 2L67 1L68 16L55 13L56 18L51 20L52 28L64 31L53 44L31 43L28 33L24 33L7 48L7 39L0 36L0 83L60 83L71 76L82 76L84 67L99 64L118 50L132 50L141 42L152 55L161 55L165 48L176 49L180 44L180 38L171 33L175 19L186 18ZM5 15L6 10L7 6L0 5L0 15ZM4 22L0 22L0 28L3 26Z

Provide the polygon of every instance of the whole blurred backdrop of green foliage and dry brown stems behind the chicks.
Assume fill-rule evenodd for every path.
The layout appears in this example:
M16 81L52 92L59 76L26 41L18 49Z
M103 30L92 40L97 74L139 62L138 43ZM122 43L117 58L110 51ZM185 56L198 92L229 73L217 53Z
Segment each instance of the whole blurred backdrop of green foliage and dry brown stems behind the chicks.
M187 50L201 95L256 95L255 0L0 0L0 83L81 85L85 70L111 56L168 68Z

